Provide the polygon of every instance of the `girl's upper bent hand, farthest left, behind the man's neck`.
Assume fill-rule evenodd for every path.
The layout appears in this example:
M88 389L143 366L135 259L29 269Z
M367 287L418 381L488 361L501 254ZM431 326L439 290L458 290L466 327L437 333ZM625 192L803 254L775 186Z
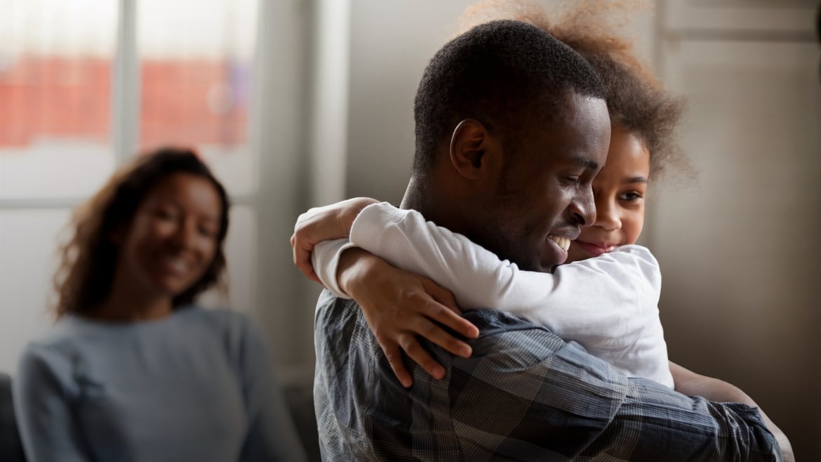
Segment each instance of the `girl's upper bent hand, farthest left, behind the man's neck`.
M310 261L310 252L316 244L328 239L347 238L356 215L366 206L378 202L369 197L355 197L330 206L314 207L296 219L291 247L294 265L306 278L322 284Z

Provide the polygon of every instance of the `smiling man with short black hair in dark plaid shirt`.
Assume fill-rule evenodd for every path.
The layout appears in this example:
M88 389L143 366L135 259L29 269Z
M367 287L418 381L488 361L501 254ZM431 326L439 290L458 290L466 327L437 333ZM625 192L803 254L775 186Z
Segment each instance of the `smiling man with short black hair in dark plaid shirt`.
M521 269L552 270L566 259L558 243L595 219L591 182L610 138L603 98L589 64L544 31L475 27L424 72L402 207ZM465 316L480 331L471 357L429 345L444 378L415 374L406 389L355 303L323 293L314 397L324 459L780 459L755 409L628 379L505 312Z

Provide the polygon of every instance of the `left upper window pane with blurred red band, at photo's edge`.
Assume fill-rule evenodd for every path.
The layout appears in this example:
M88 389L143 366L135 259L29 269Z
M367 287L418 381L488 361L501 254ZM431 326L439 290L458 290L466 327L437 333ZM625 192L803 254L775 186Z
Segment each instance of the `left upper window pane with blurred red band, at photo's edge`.
M88 195L114 166L117 2L0 4L0 197Z

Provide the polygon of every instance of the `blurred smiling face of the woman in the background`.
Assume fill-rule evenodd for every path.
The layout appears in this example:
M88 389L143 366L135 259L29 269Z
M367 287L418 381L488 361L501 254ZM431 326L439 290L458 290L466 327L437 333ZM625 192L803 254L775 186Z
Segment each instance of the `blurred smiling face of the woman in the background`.
M204 275L217 252L222 205L208 179L174 173L151 190L120 242L117 278L173 298Z

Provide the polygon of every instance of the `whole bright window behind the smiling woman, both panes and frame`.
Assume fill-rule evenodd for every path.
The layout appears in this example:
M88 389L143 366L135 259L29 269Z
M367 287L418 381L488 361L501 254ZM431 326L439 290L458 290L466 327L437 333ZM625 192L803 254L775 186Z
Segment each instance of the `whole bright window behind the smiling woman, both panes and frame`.
M0 0L0 371L52 322L57 238L136 152L195 146L235 204L228 300L255 306L248 142L258 0Z

